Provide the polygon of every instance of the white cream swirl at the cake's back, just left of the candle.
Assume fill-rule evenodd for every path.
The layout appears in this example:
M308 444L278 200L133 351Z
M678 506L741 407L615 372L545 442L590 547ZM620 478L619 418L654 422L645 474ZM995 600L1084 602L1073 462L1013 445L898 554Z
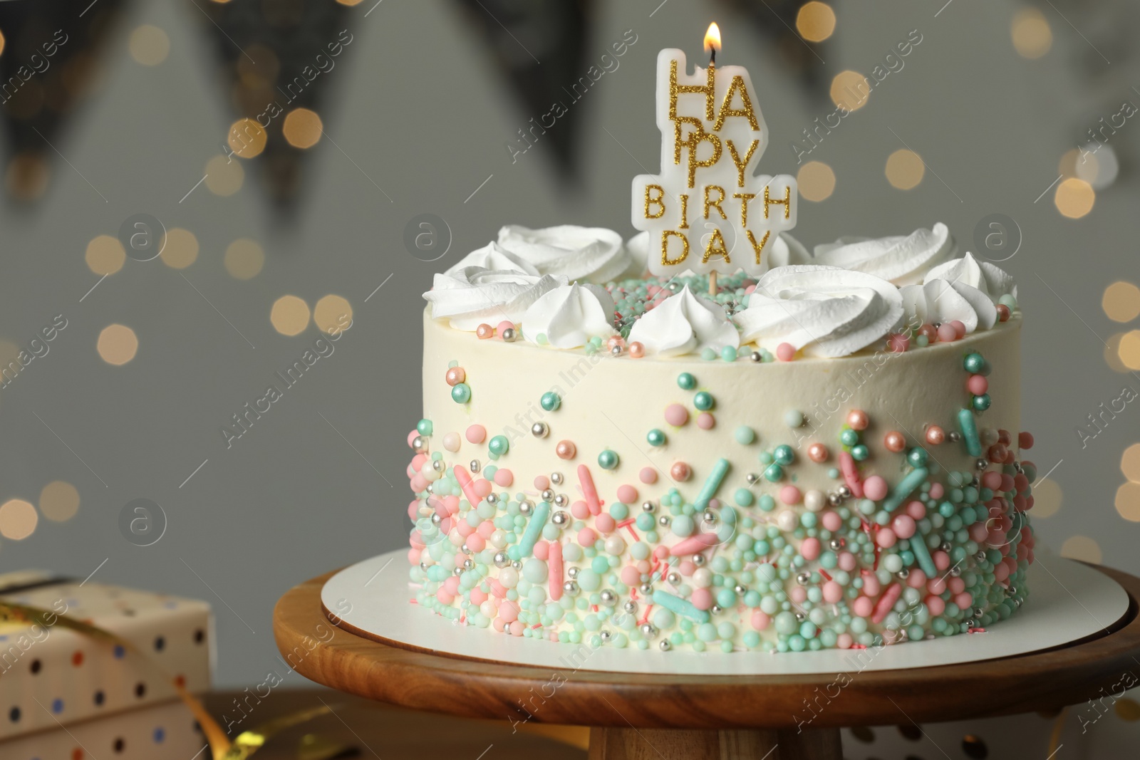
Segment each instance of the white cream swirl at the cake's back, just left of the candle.
M508 224L499 230L498 244L530 263L539 275L569 281L604 285L620 279L633 263L621 236L601 227L528 229Z

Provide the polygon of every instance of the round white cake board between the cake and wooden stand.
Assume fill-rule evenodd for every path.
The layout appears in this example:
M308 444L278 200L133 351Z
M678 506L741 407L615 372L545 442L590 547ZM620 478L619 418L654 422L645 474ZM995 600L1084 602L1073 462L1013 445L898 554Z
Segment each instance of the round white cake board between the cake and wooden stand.
M407 581L407 550L397 550L340 571L320 591L326 615L345 630L402 648L519 665L625 673L783 676L977 662L1050 649L1105 634L1129 608L1127 593L1104 573L1070 559L1039 555L1026 581L1031 589L1028 600L1017 614L984 634L865 651L795 654L682 649L662 654L635 647L603 646L591 651L586 646L589 654L584 657L585 645L461 626L412 604L416 587Z

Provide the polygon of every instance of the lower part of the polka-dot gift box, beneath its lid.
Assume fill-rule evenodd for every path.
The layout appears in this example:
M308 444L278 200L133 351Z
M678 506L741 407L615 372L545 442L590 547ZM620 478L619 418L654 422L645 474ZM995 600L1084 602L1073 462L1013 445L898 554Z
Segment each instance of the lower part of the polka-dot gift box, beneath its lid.
M206 739L181 702L152 704L66 728L28 734L0 743L3 760L190 760L205 758ZM201 753L201 754L199 754Z

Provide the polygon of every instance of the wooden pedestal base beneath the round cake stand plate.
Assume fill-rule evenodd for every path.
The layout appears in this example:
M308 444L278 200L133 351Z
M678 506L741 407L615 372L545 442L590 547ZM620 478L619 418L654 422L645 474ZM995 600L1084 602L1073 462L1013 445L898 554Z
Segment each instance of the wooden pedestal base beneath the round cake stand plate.
M592 728L589 760L839 760L838 728Z

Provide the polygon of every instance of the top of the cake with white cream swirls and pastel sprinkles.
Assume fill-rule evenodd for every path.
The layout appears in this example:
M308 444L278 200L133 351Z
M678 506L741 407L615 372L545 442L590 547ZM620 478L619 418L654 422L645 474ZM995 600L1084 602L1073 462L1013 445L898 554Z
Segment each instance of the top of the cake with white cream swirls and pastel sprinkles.
M568 351L756 361L905 351L1007 321L1017 285L958 254L945 224L844 237L813 252L781 234L759 276L646 271L649 234L507 226L434 276L430 314L450 327ZM711 278L711 283L710 283ZM510 332L507 332L510 330Z

